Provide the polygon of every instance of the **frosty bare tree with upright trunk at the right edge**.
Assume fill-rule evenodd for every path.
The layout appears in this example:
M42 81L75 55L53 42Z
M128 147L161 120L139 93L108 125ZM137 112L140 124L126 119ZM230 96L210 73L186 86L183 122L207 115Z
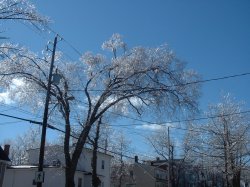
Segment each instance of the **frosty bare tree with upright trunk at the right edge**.
M209 107L208 123L196 126L200 132L192 150L204 166L224 175L226 187L240 186L242 170L249 163L249 117L242 108L226 95L221 103Z

